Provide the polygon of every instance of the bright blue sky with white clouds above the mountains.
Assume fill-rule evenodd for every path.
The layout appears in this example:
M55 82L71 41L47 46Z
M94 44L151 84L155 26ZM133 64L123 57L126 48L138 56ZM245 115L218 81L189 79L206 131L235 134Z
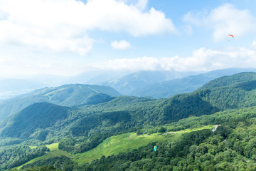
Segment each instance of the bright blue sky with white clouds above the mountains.
M0 77L256 68L255 9L255 0L0 0Z

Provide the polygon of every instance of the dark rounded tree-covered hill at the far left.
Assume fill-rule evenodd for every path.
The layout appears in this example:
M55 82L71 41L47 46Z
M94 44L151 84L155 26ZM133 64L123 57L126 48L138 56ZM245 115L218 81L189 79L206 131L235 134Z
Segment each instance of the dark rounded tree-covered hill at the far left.
M29 138L36 130L40 129L35 136L39 140L45 140L49 128L57 122L67 118L68 108L51 103L34 103L21 112L11 115L3 123L1 131L3 137Z

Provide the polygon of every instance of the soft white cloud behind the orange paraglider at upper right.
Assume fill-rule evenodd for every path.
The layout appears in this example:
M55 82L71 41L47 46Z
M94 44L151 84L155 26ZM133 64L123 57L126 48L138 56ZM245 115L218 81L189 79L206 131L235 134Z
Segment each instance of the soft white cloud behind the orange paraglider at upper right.
M256 28L256 19L250 11L237 9L232 4L219 6L210 11L210 14L205 11L198 14L188 12L183 16L183 21L213 29L215 41L220 41L230 33L235 37L243 36Z

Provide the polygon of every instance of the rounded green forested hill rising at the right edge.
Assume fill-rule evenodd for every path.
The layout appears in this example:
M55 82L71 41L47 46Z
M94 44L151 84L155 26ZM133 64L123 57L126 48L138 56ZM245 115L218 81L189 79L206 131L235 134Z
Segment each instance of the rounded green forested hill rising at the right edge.
M210 81L198 92L211 105L225 110L256 105L256 73L239 73Z

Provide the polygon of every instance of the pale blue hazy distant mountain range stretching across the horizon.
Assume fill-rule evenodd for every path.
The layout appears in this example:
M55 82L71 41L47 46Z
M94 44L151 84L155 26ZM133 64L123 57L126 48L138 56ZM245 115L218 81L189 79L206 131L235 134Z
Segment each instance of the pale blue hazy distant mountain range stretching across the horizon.
M190 93L214 78L248 71L256 70L229 68L199 75L196 75L198 73L178 71L138 71L135 73L128 71L87 71L66 77L48 74L23 76L18 79L0 80L0 100L14 98L17 95L46 86L56 87L75 83L111 86L122 95L170 98L178 93Z

